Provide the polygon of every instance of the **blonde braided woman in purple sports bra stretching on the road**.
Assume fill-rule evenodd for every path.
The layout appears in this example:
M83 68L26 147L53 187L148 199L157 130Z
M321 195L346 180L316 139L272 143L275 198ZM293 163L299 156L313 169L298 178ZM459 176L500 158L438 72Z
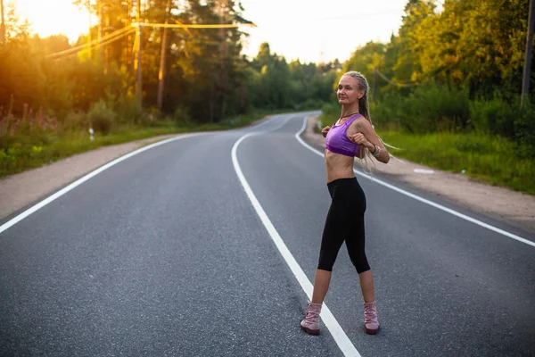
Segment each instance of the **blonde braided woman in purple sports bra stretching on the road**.
M336 255L345 241L360 280L366 333L374 335L379 331L379 322L374 278L364 250L366 196L353 172L353 162L356 156L368 163L366 156L371 154L379 162L387 163L390 154L372 127L366 78L357 71L345 73L338 83L336 95L342 104L340 119L332 128L322 129L327 187L332 203L325 220L312 301L300 328L310 335L319 334L319 313L329 288Z

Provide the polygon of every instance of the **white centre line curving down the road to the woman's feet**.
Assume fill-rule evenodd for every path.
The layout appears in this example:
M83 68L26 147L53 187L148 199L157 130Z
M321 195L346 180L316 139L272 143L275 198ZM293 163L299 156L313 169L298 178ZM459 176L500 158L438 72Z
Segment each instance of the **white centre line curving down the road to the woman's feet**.
M287 122L284 121L283 125ZM282 127L282 125L281 125ZM279 127L280 128L280 127ZM278 128L277 128L278 129ZM275 130L275 129L274 129ZM271 131L271 130L270 130ZM249 197L249 200L251 201L252 206L254 207L255 211L259 215L260 220L262 220L262 223L264 224L264 227L268 230L268 234L275 243L279 253L284 258L284 261L288 264L290 267L290 270L292 270L293 276L297 279L300 286L304 290L305 294L309 297L309 300L312 298L312 283L310 283L309 278L307 278L307 275L305 272L300 268L299 263L293 258L292 253L288 249L288 247L284 244L283 239L279 236L278 232L276 231L275 226L273 223L271 223L271 220L268 218L268 214L264 211L262 206L259 203L259 200L256 198L256 196L253 194L251 187L247 183L247 180L243 176L242 169L240 168L240 165L238 163L237 159L237 149L238 145L243 142L247 137L251 137L254 135L258 135L259 133L249 133L244 135L243 137L240 137L236 142L235 145L232 147L232 163L234 165L236 175L238 176L238 179L240 179L240 183L243 186L243 189L245 190L245 193ZM345 334L342 327L338 323L338 321L334 318L333 313L329 310L327 305L324 303L322 311L321 311L321 319L324 321L325 327L331 332L331 335L334 338L334 341L341 349L344 356L351 356L351 357L360 357L360 353L358 353L357 348L353 345L350 338Z

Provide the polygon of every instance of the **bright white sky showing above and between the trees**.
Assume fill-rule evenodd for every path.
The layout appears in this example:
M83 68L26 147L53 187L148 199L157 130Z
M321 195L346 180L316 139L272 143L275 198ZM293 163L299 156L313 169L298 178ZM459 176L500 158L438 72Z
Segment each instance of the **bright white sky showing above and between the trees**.
M71 0L4 0L14 3L21 18L41 37L64 33L75 41L89 27L87 12ZM243 17L257 28L243 54L255 56L261 43L287 61L329 62L349 59L368 41L389 42L397 33L407 0L243 0ZM93 18L93 23L96 23Z

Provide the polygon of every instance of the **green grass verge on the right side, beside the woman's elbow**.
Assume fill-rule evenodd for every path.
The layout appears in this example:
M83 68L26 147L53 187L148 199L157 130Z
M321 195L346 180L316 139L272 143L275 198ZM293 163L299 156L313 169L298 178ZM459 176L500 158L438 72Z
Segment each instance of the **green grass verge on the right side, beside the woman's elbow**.
M406 134L380 132L383 140L401 150L391 154L440 170L462 172L492 185L535 195L535 160L522 157L513 141L473 133Z

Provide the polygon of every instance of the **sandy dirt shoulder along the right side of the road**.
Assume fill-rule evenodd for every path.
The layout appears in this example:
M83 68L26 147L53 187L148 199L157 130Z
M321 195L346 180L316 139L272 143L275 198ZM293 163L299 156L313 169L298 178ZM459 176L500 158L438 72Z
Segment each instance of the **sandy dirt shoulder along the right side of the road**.
M325 138L314 131L316 125L317 117L310 117L303 138L310 143L325 146ZM379 164L378 168L380 171L377 175L387 175L390 179L535 233L534 195L506 187L490 186L461 173L436 170L406 160L391 160L387 165Z

